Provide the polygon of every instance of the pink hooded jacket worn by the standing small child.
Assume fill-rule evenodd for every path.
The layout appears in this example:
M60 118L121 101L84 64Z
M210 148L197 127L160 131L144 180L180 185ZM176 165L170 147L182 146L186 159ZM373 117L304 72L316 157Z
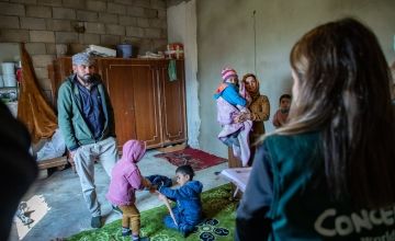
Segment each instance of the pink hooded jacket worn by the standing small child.
M136 163L145 151L145 142L139 140L128 140L123 146L122 158L112 170L109 193L105 195L113 205L134 204L135 191L144 188L143 176Z

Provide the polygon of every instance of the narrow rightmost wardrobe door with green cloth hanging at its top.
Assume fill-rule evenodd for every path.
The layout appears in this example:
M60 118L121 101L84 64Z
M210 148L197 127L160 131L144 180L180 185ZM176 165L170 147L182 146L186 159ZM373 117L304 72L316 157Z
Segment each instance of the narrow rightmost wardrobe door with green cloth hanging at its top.
M170 80L169 60L159 68L163 145L187 140L184 61L176 60L177 79Z

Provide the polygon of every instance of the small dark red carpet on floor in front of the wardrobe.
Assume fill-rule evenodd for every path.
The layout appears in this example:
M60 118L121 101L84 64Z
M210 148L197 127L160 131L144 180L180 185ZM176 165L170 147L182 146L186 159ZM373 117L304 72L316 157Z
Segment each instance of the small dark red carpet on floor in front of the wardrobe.
M219 158L193 148L185 148L183 150L168 153L159 153L155 154L154 157L163 158L177 167L190 164L194 171L206 169L227 161L224 158Z

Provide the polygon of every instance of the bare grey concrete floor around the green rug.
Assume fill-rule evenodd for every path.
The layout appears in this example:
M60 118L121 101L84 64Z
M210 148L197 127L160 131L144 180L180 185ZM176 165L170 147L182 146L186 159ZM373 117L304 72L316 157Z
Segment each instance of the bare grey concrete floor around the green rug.
M148 151L138 163L143 175L161 174L174 176L177 167L163 159L155 158L157 151ZM226 181L214 173L227 168L222 163L196 172L195 180L203 183L204 190L225 184ZM111 210L111 205L104 195L109 186L109 176L100 164L95 165L95 179L99 200L102 204L103 221L105 223L121 218L121 215ZM90 214L82 197L78 175L71 170L57 171L46 179L37 180L23 198L31 211L34 222L23 226L15 218L10 241L14 240L56 240L67 238L74 233L90 228ZM137 206L139 210L150 209L162 205L156 195L147 191L137 193Z

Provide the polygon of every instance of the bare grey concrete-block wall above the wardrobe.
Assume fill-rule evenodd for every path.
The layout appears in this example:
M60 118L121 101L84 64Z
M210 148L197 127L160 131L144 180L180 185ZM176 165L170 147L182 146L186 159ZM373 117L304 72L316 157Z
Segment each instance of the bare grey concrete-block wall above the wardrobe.
M167 44L166 0L0 0L0 43L26 43L46 93L46 68L58 45L68 45L71 55L91 44L132 43L143 54Z

